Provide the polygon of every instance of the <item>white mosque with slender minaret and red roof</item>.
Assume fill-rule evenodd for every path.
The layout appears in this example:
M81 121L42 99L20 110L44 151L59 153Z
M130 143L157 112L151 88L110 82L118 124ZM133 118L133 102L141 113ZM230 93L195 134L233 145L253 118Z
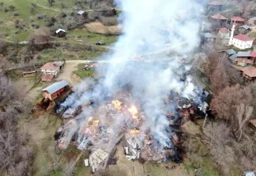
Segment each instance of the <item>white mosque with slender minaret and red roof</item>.
M244 34L238 34L234 36L234 28L232 27L229 45L234 45L240 50L251 48L253 46L254 39Z

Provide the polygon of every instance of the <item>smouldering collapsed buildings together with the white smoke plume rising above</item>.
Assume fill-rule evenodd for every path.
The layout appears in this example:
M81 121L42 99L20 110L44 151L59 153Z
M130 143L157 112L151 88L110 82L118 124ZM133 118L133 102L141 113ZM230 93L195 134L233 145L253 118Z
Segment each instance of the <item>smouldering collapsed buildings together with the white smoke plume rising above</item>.
M123 35L114 44L113 52L102 56L109 63L107 68L95 68L104 76L97 81L86 79L62 104L64 109L82 106L83 112L59 130L58 146L65 150L72 141L78 149L90 150L91 159L98 160L90 162L93 170L97 170L120 140L124 140L125 154L130 160L177 160L178 135L174 125L181 118L178 100L198 98L189 74L191 66L184 66L176 59L167 59L168 62L161 59L172 54L189 54L198 46L197 1L117 0L116 4L125 9L120 15ZM186 20L181 20L180 10L186 11ZM163 25L173 30L162 34L159 28ZM143 41L143 47L134 38ZM166 38L170 41L168 48ZM164 49L152 50L152 43ZM145 53L152 57L142 62L133 62L130 57ZM188 103L183 109L191 107ZM101 159L94 153L99 149Z

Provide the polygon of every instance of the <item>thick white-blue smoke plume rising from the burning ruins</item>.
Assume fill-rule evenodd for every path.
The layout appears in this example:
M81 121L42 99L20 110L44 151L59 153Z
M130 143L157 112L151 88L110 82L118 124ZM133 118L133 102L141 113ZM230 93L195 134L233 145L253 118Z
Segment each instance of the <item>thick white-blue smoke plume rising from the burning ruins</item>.
M116 6L123 10L119 18L123 30L114 52L101 58L109 62L107 68L98 69L104 78L86 79L62 106L101 102L129 86L146 117L141 130L150 129L162 147L170 146L164 100L170 93L195 96L196 87L186 75L191 66L178 61L184 54L191 56L198 46L202 7L193 0L117 0ZM143 56L142 62L134 62L138 55ZM171 106L170 111L174 110Z

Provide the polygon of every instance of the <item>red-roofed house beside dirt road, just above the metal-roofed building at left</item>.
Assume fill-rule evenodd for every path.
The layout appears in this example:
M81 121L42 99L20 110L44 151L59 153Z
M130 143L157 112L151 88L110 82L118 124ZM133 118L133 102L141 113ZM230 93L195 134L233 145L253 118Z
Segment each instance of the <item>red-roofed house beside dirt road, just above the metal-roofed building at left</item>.
M52 81L54 77L57 77L63 66L64 62L47 62L44 66L40 68L42 72L42 81Z

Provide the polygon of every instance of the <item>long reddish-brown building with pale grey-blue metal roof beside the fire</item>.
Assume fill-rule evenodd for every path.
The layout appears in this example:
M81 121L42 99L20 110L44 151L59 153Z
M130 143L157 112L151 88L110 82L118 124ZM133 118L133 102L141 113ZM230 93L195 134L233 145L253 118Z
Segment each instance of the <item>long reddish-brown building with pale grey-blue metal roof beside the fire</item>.
M68 90L69 83L65 80L61 82L55 82L54 84L47 86L42 90L42 95L44 98L49 98L50 100L54 100L61 96L66 90Z

